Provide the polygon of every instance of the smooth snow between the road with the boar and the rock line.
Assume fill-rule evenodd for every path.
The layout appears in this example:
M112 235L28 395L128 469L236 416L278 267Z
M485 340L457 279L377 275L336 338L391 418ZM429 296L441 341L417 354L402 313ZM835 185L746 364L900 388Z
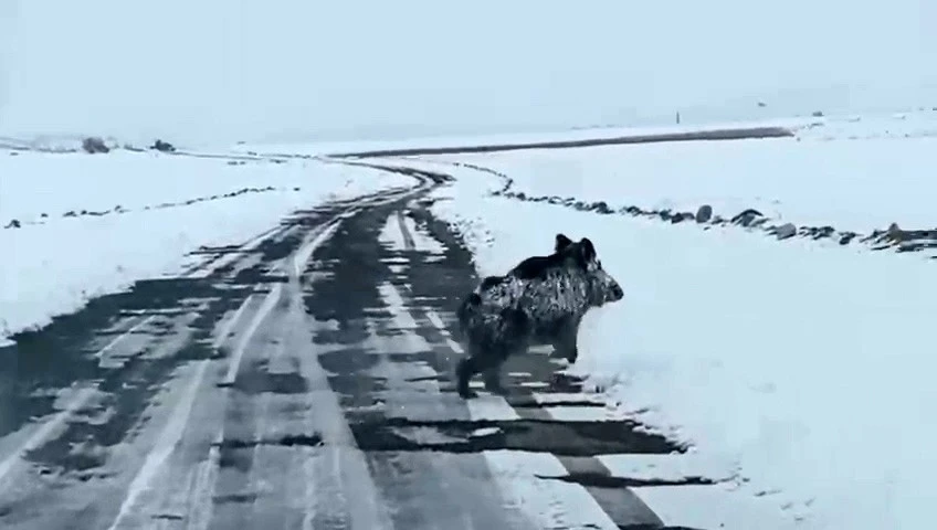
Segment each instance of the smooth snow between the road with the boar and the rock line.
M722 145L708 148L726 156ZM549 176L593 163L593 150L579 160L572 153L527 162L556 189L564 183ZM720 496L713 488L722 487L639 488L665 522L856 530L929 523L937 474L926 442L937 435L933 263L483 198L480 181L491 189L496 180L476 172L440 192L433 206L466 235L480 274L548 253L557 232L591 237L625 298L587 317L573 370L636 420L693 443L697 455L738 465L739 480ZM670 191L666 182L657 189ZM738 182L710 183L710 197L728 195Z

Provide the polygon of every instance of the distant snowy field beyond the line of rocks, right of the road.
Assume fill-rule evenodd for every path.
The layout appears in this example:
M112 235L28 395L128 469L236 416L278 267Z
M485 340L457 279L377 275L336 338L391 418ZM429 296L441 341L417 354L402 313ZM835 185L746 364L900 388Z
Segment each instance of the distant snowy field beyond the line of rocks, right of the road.
M612 209L635 205L695 213L709 204L727 219L754 208L781 222L832 225L863 234L886 229L892 222L903 229L934 229L937 215L931 198L937 183L931 168L937 166L937 137L883 137L888 131L883 123L905 123L891 119L834 121L830 129L817 127L798 138L540 149L440 159L504 172L514 179L514 191L607 201ZM935 126L937 119L931 118L930 124Z

